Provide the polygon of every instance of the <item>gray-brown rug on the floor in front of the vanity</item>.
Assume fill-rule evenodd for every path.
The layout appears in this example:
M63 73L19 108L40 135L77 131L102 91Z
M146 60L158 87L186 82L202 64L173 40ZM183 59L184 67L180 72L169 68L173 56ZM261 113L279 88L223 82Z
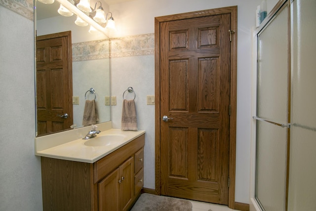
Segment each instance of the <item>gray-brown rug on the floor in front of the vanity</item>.
M143 193L131 211L192 211L188 200Z

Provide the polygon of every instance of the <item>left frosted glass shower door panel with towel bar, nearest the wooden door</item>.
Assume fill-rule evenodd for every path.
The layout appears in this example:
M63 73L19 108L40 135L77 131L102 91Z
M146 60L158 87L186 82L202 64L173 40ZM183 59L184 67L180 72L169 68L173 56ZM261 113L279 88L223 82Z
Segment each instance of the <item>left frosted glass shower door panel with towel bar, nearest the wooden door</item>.
M285 211L289 112L288 6L258 33L255 198Z

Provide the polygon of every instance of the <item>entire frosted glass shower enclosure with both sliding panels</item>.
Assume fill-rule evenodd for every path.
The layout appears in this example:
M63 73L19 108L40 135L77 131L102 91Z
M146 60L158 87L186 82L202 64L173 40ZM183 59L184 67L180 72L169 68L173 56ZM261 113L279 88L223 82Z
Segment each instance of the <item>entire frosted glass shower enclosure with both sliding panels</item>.
M257 31L259 210L316 210L315 8L316 0L280 0Z

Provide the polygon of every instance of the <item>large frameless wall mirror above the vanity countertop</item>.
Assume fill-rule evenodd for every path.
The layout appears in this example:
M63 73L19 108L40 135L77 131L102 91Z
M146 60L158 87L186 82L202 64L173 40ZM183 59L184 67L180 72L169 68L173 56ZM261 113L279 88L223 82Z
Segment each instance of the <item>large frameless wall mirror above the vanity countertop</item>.
M92 110L98 116L96 124L110 121L110 105L106 105L105 101L105 97L110 96L108 36L104 33L90 34L89 26L77 26L75 24L76 14L70 17L60 15L57 12L60 7L58 1L52 4L35 1L35 5L37 135L86 126L84 124L89 125L89 122L83 121L83 117L84 114L85 116L90 115L89 111L87 114L87 107L90 104L86 106L86 103L93 100L95 108ZM107 9L106 4L103 3L102 6L105 10ZM59 41L55 38L64 33L68 34L67 39L70 43L65 45L66 50L61 50L56 47L56 43ZM64 43L67 39L62 38L61 42ZM47 48L46 41L52 41L53 44L50 44L52 46ZM60 67L58 66L58 60L62 60L61 56L67 52L71 52L69 60L67 60L70 82L67 82L63 74L59 73ZM46 60L53 61L53 67L44 64ZM66 86L63 86L62 83ZM69 83L72 85L70 86ZM46 91L54 86L57 91ZM70 92L70 100L64 99L67 92ZM65 103L66 101L68 102ZM44 110L47 108L50 108L50 111L45 113ZM64 115L66 113L68 114L67 119ZM48 114L52 117L46 117ZM69 123L65 128L63 123L67 121Z

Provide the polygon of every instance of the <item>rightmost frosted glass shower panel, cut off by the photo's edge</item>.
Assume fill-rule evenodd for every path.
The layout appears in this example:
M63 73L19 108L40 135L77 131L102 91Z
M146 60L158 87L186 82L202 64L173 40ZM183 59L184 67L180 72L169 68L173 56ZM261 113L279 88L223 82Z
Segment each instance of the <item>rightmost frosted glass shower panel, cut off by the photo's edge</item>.
M288 211L316 211L316 0L294 0L291 7Z

